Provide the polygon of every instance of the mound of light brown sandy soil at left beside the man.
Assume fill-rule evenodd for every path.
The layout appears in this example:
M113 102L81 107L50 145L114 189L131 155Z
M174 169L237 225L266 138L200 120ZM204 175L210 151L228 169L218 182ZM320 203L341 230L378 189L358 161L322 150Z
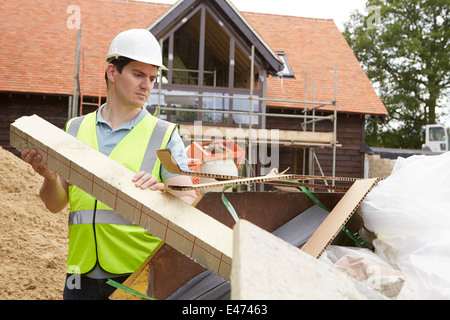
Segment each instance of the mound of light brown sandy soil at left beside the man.
M48 211L43 178L0 147L0 299L62 299L68 209Z

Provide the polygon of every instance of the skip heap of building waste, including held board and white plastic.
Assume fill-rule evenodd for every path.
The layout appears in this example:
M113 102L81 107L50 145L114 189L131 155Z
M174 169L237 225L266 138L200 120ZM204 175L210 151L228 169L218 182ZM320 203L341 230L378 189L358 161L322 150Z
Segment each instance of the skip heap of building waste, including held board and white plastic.
M225 206L217 206L220 198L214 194L200 197L193 207L167 193L135 188L126 168L37 116L11 125L11 145L38 149L50 169L165 241L124 283L130 292L169 300L450 298L450 198L445 196L450 194L450 153L397 160L391 176L380 182L276 172L256 178L184 172L170 152L158 152L170 172L219 180L197 189L254 182L352 183L341 193L267 193L276 201L265 193L230 193L239 215L233 220ZM283 199L287 196L309 197L309 203L291 203ZM274 214L266 201L279 201L279 212ZM359 207L361 217L355 214ZM356 232L351 247L341 246L339 235L354 232L348 230L352 217L359 217L362 237L356 241ZM358 247L364 241L372 250ZM116 290L111 299L136 296Z

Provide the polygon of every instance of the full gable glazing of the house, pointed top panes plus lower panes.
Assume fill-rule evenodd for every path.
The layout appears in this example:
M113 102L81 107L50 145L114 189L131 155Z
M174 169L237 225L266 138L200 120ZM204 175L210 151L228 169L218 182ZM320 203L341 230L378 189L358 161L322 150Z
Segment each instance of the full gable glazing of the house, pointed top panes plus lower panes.
M248 126L249 116L233 115L230 111L260 111L258 101L230 99L230 96L249 97L252 77L253 94L262 96L260 81L261 62L255 58L252 70L251 49L230 30L220 15L208 2L197 7L174 22L162 38L164 64L169 71L162 73L162 88L167 92L188 95L199 94L195 102L161 101L163 107L201 109L211 112L166 110L160 113L169 121L192 122L202 120L207 124ZM190 100L190 99L188 99ZM186 101L188 101L186 100ZM178 102L178 103L177 103ZM154 104L154 100L152 101ZM213 112L219 111L219 112ZM258 126L254 116L252 125Z

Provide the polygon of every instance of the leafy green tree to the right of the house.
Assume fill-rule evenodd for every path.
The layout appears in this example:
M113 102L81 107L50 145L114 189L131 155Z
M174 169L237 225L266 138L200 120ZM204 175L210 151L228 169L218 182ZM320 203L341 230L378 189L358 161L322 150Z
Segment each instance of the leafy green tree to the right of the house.
M450 108L450 0L368 0L344 36L389 115L368 118L366 143L420 148L425 124ZM447 110L442 110L448 112Z

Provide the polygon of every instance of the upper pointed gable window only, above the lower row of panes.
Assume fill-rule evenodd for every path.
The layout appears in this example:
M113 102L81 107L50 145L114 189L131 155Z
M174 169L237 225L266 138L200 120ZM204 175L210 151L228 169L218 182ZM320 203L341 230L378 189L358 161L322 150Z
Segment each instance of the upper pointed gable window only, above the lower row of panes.
M250 89L249 49L205 4L164 37L163 56L170 67L164 74L169 84ZM253 77L258 79L258 74L255 62Z

